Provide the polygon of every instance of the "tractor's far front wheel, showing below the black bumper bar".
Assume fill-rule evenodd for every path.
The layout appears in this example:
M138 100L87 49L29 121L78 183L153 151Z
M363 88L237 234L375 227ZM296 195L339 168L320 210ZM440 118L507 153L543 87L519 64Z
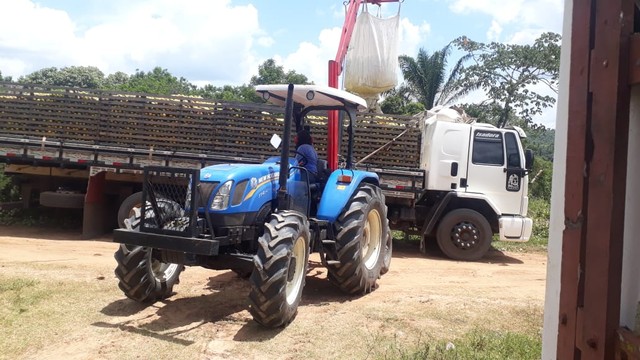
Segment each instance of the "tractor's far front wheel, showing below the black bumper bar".
M184 265L164 263L153 256L152 248L121 244L115 253L118 287L132 300L153 303L173 294Z

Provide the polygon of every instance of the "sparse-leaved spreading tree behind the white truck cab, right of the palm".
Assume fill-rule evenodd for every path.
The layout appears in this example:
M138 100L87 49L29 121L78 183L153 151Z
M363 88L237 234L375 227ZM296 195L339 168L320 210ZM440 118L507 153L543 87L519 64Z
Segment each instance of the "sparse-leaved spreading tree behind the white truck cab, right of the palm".
M458 86L480 88L494 109L499 108L498 127L504 127L512 115L530 123L532 117L553 106L555 98L533 90L545 84L557 94L560 72L560 35L544 33L533 45L483 44L466 36L454 40L467 52L473 64L462 69Z

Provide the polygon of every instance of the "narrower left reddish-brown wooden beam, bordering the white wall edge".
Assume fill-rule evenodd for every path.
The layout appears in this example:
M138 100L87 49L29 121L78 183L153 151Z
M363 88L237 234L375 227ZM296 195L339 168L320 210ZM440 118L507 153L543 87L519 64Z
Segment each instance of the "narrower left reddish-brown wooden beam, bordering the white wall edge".
M571 29L571 68L569 71L569 117L565 172L565 229L562 236L560 301L558 321L558 359L577 358L578 301L586 218L587 129L591 94L589 66L591 52L592 0L575 0Z

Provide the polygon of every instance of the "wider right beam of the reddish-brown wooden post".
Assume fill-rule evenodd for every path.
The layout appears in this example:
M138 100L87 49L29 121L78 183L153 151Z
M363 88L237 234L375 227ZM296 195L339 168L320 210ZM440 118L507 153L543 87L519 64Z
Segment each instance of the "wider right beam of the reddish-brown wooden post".
M584 359L614 357L620 289L629 139L629 38L635 4L598 0L591 53L593 157L588 163L584 265Z

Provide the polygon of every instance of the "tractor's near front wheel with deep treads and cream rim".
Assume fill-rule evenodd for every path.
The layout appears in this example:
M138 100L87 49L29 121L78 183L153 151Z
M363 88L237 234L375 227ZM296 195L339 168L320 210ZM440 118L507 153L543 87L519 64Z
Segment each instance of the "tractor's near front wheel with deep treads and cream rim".
M272 214L258 239L249 278L249 312L260 325L288 325L298 304L309 261L309 222L295 211Z

